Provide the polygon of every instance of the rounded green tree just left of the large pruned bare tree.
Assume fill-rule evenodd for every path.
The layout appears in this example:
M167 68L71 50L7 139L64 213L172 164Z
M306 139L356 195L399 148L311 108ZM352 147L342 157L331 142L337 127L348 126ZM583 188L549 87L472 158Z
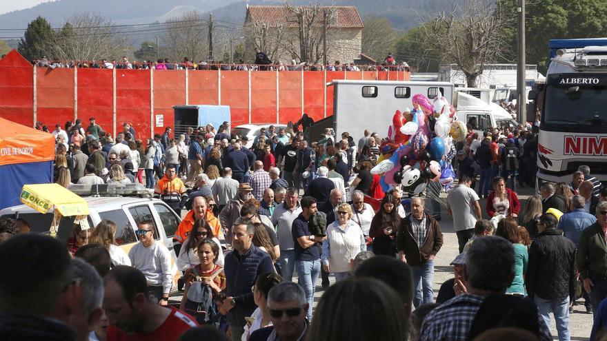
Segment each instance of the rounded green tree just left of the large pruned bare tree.
M406 61L415 72L438 72L441 53L439 50L428 49L424 30L426 28L419 26L401 34L392 47L395 52L393 56L399 61Z

